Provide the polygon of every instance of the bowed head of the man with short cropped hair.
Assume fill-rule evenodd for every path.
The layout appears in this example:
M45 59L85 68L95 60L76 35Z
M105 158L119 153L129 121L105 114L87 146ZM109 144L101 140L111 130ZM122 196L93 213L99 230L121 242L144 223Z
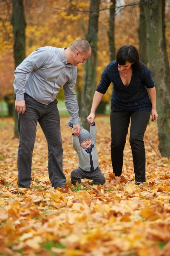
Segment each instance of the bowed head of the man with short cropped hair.
M78 39L65 49L65 55L68 63L77 66L90 57L91 46L87 40Z

